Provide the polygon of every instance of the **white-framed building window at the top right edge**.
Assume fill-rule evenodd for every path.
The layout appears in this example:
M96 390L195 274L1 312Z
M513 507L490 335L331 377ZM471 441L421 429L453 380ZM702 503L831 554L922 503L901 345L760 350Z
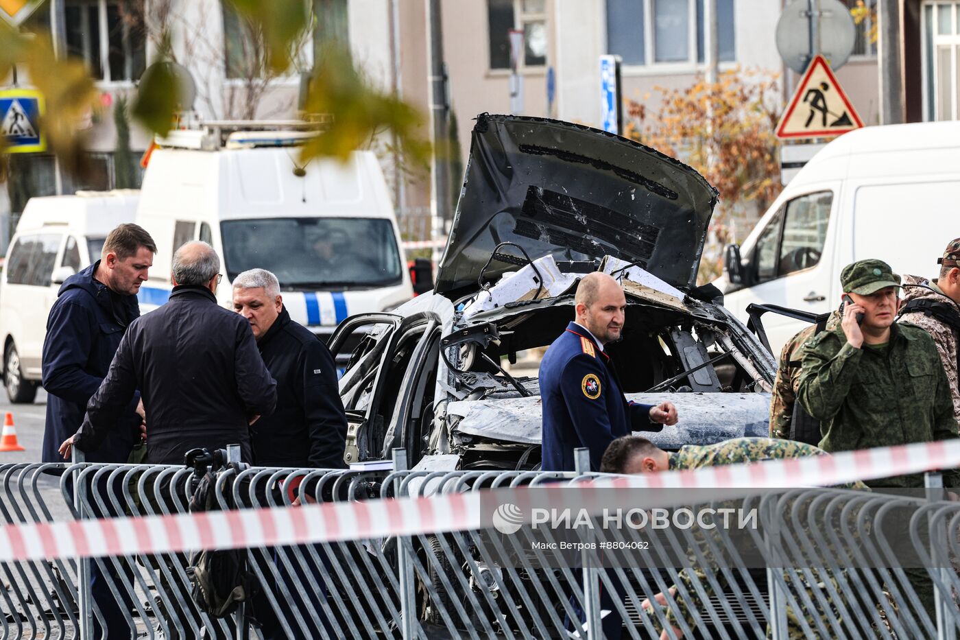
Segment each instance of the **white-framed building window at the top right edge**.
M924 3L924 113L960 120L960 2Z

